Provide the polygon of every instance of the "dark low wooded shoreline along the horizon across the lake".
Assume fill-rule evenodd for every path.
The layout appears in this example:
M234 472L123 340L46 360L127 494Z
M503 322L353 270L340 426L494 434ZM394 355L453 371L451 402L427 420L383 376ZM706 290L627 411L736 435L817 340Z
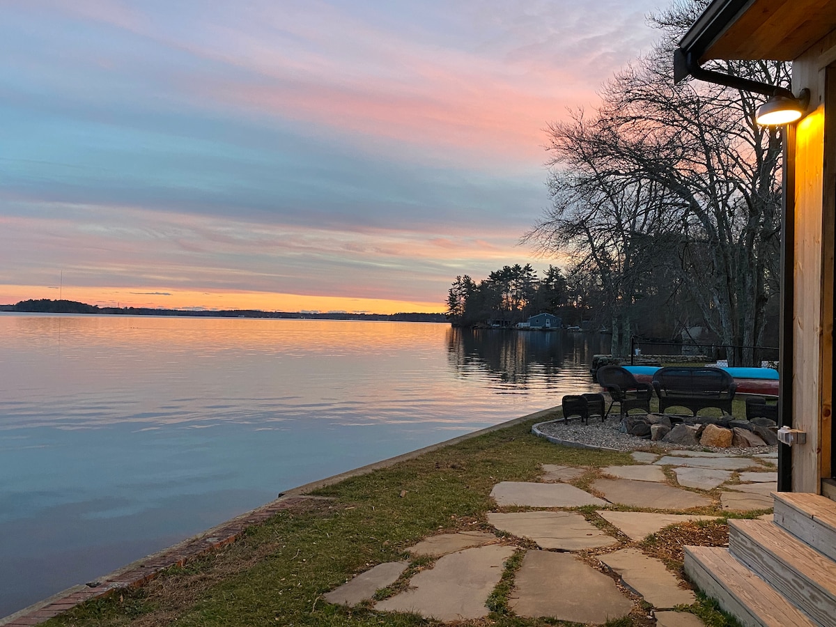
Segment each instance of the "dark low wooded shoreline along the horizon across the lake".
M149 307L99 307L73 300L22 300L0 305L0 312L18 314L108 314L131 316L188 316L192 318L271 318L311 320L388 320L392 322L448 322L445 314L350 314L348 312L281 312L260 309L156 309Z

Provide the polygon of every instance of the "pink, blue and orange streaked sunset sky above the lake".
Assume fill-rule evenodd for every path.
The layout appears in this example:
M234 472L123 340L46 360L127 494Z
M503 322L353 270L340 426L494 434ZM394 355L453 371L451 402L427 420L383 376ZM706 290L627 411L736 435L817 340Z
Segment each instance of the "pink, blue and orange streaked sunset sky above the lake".
M666 0L3 0L0 303L443 311Z

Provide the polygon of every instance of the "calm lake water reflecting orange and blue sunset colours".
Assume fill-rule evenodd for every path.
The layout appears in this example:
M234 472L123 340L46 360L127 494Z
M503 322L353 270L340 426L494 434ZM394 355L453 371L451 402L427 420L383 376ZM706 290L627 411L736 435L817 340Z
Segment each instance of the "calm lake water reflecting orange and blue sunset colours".
M592 390L599 341L0 314L0 617L283 490Z

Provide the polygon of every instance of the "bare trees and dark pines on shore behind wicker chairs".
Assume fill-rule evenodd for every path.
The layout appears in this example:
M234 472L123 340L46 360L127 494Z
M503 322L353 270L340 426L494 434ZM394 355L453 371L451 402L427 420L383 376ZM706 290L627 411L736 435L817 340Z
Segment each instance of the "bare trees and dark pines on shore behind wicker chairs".
M551 206L523 242L568 259L563 271L540 281L530 266L479 283L456 278L453 322L542 308L606 327L614 354L636 334L704 331L735 365L757 364L758 346L777 345L781 132L755 123L760 96L672 79L672 49L707 4L677 0L651 16L662 35L655 49L605 84L593 110L550 125ZM789 64L777 61L706 67L790 82Z

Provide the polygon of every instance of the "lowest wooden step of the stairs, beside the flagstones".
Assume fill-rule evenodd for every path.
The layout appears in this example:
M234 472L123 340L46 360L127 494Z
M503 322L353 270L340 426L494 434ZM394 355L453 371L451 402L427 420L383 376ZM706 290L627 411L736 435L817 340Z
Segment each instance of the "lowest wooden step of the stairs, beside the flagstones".
M686 547L685 572L697 588L745 627L811 627L816 623L721 547Z

